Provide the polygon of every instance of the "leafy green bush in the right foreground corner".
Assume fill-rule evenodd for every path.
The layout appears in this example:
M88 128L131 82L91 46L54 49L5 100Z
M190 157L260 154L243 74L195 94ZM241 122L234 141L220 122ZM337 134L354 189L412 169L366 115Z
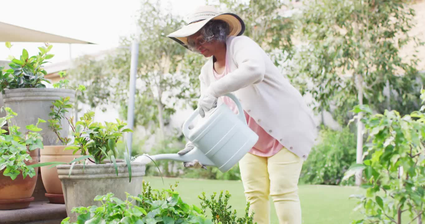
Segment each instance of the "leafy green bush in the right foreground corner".
M425 90L422 90L425 100ZM346 177L363 170L366 189L360 198L365 218L353 223L411 223L425 218L425 105L419 111L401 116L386 110L373 114L367 106L356 106L363 112L362 122L369 132L367 145L370 159L355 164ZM402 216L407 212L408 217ZM405 220L408 219L408 220Z

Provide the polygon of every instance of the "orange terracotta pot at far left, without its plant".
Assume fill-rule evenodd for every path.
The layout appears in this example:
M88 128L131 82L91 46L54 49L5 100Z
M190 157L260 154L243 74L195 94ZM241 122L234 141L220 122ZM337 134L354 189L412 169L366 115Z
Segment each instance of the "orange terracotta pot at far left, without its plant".
M30 151L32 161L25 164L32 165L38 163L38 150ZM34 201L32 194L37 183L38 167L35 169L35 176L25 179L19 174L16 179L10 179L10 176L4 176L0 171L0 210L22 209L29 206Z

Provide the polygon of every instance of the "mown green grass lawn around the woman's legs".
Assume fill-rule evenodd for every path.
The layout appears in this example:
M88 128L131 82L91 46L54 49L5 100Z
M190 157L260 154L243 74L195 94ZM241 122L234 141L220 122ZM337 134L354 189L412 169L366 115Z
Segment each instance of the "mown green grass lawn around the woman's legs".
M209 196L213 192L229 190L232 197L230 204L232 209L236 209L239 216L244 215L245 196L241 181L223 181L206 179L181 179L164 178L165 185L162 184L161 177L147 176L145 181L150 182L153 188L169 188L170 184L179 182L177 191L189 204L198 205L201 200L198 195L205 192ZM355 199L348 199L351 194L361 193L361 189L356 187L338 187L326 185L300 185L300 200L302 207L303 224L349 224L356 218L360 218L360 213L354 212L356 206ZM275 208L271 202L271 223L279 224ZM207 214L211 216L211 214Z

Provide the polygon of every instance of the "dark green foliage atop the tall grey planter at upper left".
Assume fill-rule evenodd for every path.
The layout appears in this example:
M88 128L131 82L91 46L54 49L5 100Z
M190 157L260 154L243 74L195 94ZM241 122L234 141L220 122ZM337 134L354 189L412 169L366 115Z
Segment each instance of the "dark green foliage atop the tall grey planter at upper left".
M11 48L11 44L6 42L6 47ZM3 67L0 67L0 90L4 93L5 89L17 88L45 88L43 82L50 83L44 78L47 72L43 64L48 63L45 60L51 59L54 55L48 54L53 45L46 44L45 47L39 47L40 52L35 56L28 56L26 49L22 50L22 55L12 58L9 64L10 69L3 73Z

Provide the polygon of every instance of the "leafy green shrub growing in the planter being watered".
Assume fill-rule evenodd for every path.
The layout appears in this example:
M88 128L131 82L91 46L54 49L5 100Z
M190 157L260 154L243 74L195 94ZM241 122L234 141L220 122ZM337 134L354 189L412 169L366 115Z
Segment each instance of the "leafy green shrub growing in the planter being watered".
M127 123L116 119L116 123L105 122L102 125L94 122L94 112L86 112L75 124L73 118L68 120L71 126L74 142L65 149L77 151L85 155L92 155L96 164L101 164L103 160L110 159L110 153L116 148L116 143L121 139L124 132L133 132L126 129ZM89 159L90 160L90 159ZM111 160L110 160L111 161Z

